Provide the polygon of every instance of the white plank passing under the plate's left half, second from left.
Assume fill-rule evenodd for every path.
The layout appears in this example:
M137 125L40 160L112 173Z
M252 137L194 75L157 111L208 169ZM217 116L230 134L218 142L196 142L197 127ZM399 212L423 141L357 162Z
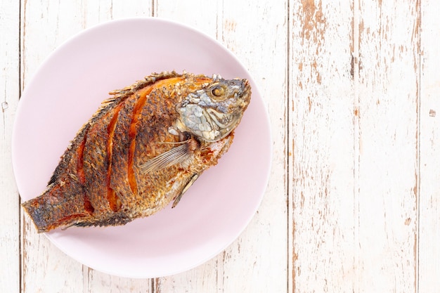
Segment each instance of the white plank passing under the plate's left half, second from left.
M150 4L145 1L133 4L128 6L124 1L24 1L24 85L51 51L84 28L112 18L150 15ZM150 280L118 278L82 266L56 249L44 235L37 235L27 217L23 221L22 292L150 292Z

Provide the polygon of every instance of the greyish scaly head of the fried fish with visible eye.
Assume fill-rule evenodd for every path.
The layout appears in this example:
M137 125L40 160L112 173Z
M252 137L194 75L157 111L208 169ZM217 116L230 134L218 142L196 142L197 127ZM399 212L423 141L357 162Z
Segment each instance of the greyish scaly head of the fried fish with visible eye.
M222 79L189 93L177 106L180 131L214 142L228 136L238 126L250 103L251 87L247 79Z

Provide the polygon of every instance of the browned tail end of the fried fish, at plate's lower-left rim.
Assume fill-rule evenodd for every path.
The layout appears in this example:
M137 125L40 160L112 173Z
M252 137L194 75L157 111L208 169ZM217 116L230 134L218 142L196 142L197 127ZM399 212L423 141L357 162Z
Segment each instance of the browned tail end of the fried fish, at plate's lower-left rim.
M69 227L90 218L84 195L63 193L63 188L48 188L39 197L22 203L22 207L34 222L38 233L58 227Z

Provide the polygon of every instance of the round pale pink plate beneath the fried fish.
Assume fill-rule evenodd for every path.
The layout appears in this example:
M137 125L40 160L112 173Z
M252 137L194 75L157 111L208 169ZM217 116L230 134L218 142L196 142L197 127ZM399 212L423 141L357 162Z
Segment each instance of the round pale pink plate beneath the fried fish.
M78 34L54 51L27 85L13 132L13 167L22 200L44 190L70 140L109 91L164 70L250 79L252 101L231 149L175 209L126 226L46 234L67 255L99 271L153 278L198 266L240 235L266 188L268 117L245 67L205 34L166 20L135 18Z

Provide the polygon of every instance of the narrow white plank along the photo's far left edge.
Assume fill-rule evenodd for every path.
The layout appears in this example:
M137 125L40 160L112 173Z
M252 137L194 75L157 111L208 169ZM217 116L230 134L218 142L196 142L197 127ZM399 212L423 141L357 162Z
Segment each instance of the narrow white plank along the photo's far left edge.
M13 119L20 93L20 3L0 2L0 292L20 290L19 197L11 162Z

